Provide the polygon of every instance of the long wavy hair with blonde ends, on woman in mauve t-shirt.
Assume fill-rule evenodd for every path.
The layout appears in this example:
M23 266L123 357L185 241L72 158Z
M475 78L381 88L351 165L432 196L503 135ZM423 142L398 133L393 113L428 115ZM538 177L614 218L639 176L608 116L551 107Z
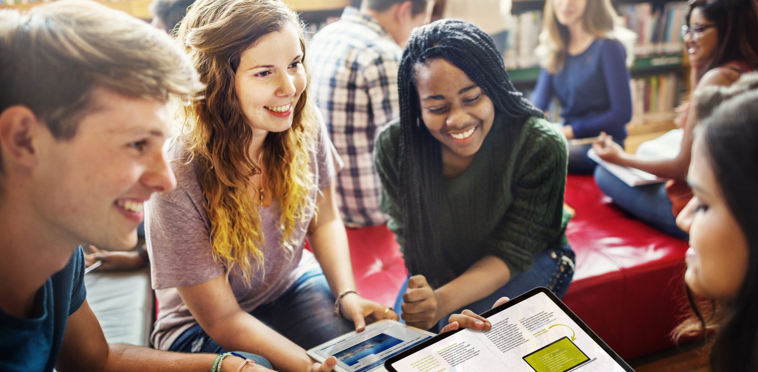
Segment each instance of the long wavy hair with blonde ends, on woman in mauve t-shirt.
M189 127L184 142L191 159L199 164L213 256L227 270L239 265L248 283L252 272L263 267L265 238L248 189L249 177L262 170L249 155L252 129L237 98L234 77L247 48L287 25L301 30L300 46L305 53L297 14L280 0L201 0L189 9L177 35L207 85L205 98L184 112ZM309 198L315 187L309 165L318 129L314 123L314 108L305 89L295 106L292 127L268 133L263 143L266 180L281 208L277 220L281 243L290 252L295 243L293 230L307 222L307 211L315 208Z

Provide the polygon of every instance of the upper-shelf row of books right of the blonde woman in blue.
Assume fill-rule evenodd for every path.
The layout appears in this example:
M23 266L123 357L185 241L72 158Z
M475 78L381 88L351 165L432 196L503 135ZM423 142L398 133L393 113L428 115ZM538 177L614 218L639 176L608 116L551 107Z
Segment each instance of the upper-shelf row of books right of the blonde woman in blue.
M625 26L637 33L634 54L649 56L681 52L681 27L685 24L686 2L650 2L619 5Z

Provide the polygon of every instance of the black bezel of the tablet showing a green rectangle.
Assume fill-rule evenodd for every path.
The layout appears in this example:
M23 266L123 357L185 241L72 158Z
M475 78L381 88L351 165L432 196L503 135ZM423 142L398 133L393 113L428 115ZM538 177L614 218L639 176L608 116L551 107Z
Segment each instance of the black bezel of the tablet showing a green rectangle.
M526 292L523 295L519 295L515 299L512 299L509 302L506 302L503 305L500 305L496 308L491 308L490 310L484 311L484 313L481 313L480 315L482 317L491 317L494 314L497 314L500 311L505 310L506 308L510 308L511 306L517 305L519 302L522 302L525 299L529 299L532 296L537 295L539 293L544 293L547 295L549 299L553 300L553 302L555 302L556 305L558 305L558 307L565 314L568 315L568 317L571 317L571 319L574 320L574 322L579 325L579 327L581 328L581 330L584 331L584 333L587 333L587 335L589 335L590 338L592 338L594 342L597 342L597 345L600 345L600 347L603 348L603 350L606 353L608 353L608 355L610 355L611 358L613 358L613 360L616 363L618 363L622 368L624 368L624 370L626 370L627 372L634 372L634 369L632 369L632 367L629 367L629 364L627 364L621 357L619 357L619 355L616 354L613 351L613 349L611 349L606 344L606 342L603 341L603 339L600 339L600 336L597 336L597 334L595 334L592 330L590 330L590 327L587 327L587 324L584 324L584 322L581 319L579 319L579 317L577 317L576 314L574 314L574 311L571 311L571 309L568 308L568 306L566 306L556 295L554 295L553 292L550 291L550 289L547 289L543 286L532 289L531 291ZM454 334L459 333L462 330L464 330L464 328L442 333L440 335L432 337L431 339L427 339L424 342L418 343L412 346L410 349L406 349L400 352L399 354L393 355L391 358L387 359L387 361L384 361L384 368L386 368L387 371L389 372L397 372L397 370L394 367L392 367L392 364L395 363L396 361L399 361L402 358L406 358L407 356L412 355L415 352L421 351L422 349L425 349L429 345L440 342L440 340L442 339L446 339L449 336L453 336Z

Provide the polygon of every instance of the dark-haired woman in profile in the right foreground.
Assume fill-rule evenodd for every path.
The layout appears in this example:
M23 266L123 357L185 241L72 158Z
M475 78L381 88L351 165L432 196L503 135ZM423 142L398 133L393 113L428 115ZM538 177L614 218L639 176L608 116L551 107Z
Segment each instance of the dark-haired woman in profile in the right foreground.
M687 181L694 197L677 217L677 224L690 235L684 282L694 314L678 327L677 336L713 336L712 372L754 371L758 370L758 74L746 74L728 88L703 89L695 102L698 114L707 118L698 124L692 146ZM719 106L713 114L702 112L714 105Z

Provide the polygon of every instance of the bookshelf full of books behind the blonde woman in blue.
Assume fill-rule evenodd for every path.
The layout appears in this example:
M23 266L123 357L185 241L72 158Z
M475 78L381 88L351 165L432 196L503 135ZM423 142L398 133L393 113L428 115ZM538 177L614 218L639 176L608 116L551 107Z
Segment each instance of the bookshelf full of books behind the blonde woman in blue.
M531 94L540 74L534 48L542 22L543 0L513 0L509 48L503 54L514 85ZM660 133L675 128L673 109L689 91L688 58L679 35L686 3L662 0L614 2L625 27L637 33L631 71L634 114L627 124L630 136ZM548 116L559 119L553 105Z

